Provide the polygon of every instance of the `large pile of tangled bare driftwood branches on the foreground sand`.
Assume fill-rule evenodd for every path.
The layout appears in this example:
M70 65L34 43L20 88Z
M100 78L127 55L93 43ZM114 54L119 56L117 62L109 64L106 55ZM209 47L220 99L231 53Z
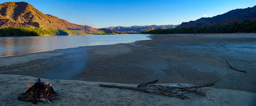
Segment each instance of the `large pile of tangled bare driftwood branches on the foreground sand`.
M145 84L140 84L137 87L131 87L131 86L117 86L117 85L105 85L105 84L99 84L99 86L102 87L109 87L109 88L119 88L119 89L131 89L131 90L136 90L136 91L141 91L141 92L148 92L148 93L156 93L160 95L166 95L170 97L176 97L180 99L186 99L186 98L191 98L189 96L183 95L183 93L195 93L201 96L205 96L205 93L197 91L197 89L202 88L202 87L207 87L207 86L212 86L215 83L219 82L220 80L213 81L207 84L201 84L198 86L190 86L190 87L184 87L184 86L166 86L166 85L161 85L161 84L154 84L158 80L155 81L148 81L148 83ZM155 87L157 89L149 89L148 87Z

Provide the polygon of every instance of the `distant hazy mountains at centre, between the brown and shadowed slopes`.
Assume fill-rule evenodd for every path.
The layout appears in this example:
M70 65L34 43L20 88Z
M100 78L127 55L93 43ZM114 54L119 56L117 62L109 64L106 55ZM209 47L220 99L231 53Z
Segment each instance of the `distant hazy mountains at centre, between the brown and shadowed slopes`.
M140 33L143 31L154 30L154 29L171 29L177 26L178 25L144 25L144 26L134 25L130 27L123 27L123 26L108 27L105 29L110 31L115 31L115 32L122 32L122 33Z

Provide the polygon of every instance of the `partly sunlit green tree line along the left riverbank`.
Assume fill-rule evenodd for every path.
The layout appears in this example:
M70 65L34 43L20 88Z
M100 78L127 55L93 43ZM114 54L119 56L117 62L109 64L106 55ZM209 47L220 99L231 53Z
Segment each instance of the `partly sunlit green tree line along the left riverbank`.
M115 34L105 33L103 31L82 31L67 29L42 29L42 28L0 28L0 36L54 36L54 35L87 35L87 34Z

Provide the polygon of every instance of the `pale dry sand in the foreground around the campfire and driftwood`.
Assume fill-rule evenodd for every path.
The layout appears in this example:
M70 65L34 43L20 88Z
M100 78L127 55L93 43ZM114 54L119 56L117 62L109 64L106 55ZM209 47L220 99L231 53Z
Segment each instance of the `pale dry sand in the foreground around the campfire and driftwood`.
M25 92L37 78L26 75L0 75L0 105L1 106L34 106L31 102L17 100L17 95ZM41 81L52 83L58 92L60 100L52 104L38 102L38 106L70 106L70 105L161 105L161 106L255 106L256 93L204 87L202 92L206 97L193 93L185 93L193 99L178 99L163 95L132 91L128 89L100 87L99 84L116 84L120 86L137 86L134 84L117 84L104 82L76 81L76 80L49 80ZM168 85L168 84L166 84ZM180 84L189 86L189 84Z

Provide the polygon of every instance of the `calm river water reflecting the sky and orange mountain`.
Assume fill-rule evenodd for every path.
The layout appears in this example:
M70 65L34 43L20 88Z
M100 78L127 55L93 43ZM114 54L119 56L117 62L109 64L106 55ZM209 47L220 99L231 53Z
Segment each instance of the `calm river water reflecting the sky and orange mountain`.
M80 46L111 45L147 40L147 34L0 37L0 57Z

